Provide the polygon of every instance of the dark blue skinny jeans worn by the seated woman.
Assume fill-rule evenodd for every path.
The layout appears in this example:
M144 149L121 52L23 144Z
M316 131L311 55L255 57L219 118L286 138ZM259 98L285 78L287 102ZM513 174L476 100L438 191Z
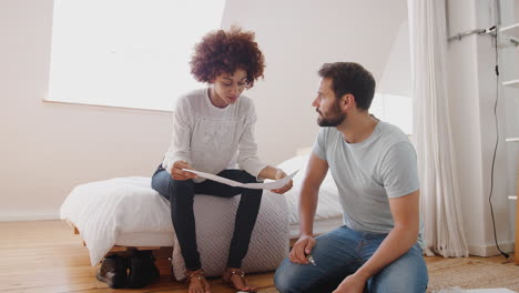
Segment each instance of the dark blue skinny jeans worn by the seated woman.
M217 175L242 183L257 182L253 175L243 170L224 170ZM171 219L181 245L182 256L184 256L185 267L190 271L202 267L196 246L194 195L232 198L242 194L227 259L227 266L242 267L242 260L247 254L248 243L260 211L263 190L233 188L212 180L205 180L201 183L195 183L193 180L174 180L162 166L159 166L153 174L152 188L170 201Z

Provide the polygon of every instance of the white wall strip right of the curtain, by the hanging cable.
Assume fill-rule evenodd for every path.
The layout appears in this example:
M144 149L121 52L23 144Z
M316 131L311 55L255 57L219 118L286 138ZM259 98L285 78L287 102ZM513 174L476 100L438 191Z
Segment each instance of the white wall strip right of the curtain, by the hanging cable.
M493 26L492 1L450 0L450 36ZM476 255L495 255L493 228L489 210L491 163L496 142L493 104L496 75L493 42L489 36L470 36L449 43L449 99L462 215L469 250ZM505 97L500 97L502 101ZM511 251L513 226L507 200L505 105L498 104L499 148L493 173L493 213L498 242Z

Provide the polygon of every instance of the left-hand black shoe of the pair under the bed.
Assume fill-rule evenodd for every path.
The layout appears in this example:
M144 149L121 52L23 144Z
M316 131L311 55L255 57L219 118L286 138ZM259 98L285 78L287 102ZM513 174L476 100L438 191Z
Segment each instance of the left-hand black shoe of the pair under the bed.
M126 260L121 255L113 254L104 257L95 277L112 289L124 287L128 280L126 267Z

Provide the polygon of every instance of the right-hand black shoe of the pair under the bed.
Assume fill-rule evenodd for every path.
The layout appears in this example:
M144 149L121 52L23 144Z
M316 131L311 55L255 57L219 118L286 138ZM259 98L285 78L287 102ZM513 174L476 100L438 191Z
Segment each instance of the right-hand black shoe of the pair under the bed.
M129 287L144 287L160 277L152 251L135 251L130 260Z

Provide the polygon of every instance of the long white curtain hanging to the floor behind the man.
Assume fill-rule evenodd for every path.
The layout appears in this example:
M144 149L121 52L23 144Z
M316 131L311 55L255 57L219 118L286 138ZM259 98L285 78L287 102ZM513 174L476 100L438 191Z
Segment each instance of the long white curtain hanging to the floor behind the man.
M426 254L467 256L447 90L446 3L408 0L413 140L418 154Z

